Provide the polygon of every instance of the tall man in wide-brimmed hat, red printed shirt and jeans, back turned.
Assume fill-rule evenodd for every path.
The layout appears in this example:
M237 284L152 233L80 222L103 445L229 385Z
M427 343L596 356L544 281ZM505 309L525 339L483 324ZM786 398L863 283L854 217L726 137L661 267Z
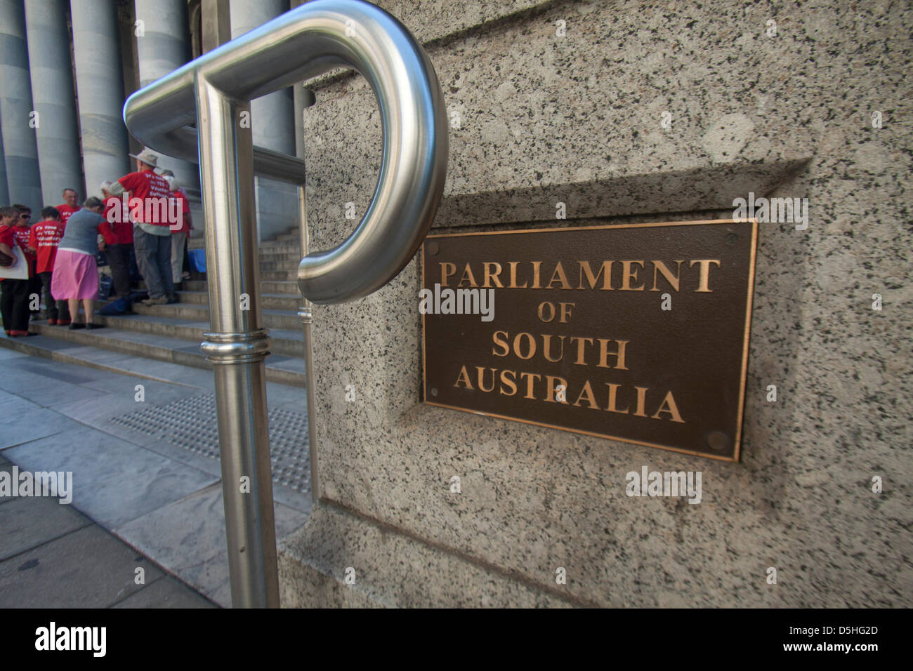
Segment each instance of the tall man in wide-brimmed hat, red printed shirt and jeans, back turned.
M142 278L149 288L144 305L164 305L174 294L171 269L171 230L168 216L171 190L163 176L155 173L158 155L148 149L131 154L136 172L111 184L110 194L131 194L133 248Z

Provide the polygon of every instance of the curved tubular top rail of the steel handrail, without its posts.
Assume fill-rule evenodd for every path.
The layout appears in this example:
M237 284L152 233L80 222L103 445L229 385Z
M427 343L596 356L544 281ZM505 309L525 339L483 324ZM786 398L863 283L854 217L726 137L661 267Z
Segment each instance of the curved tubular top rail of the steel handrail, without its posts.
M394 278L415 255L446 178L444 96L409 31L359 0L314 0L196 58L131 95L124 121L147 146L195 161L194 80L252 100L346 66L371 85L381 110L383 161L362 222L347 240L301 261L299 285L314 303L359 299ZM255 171L304 183L304 162L263 148Z

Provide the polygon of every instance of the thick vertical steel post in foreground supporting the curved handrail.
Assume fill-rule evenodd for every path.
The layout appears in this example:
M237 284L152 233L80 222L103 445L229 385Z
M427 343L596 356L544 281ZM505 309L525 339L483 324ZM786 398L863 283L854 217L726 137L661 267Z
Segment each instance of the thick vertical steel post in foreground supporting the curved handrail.
M278 607L265 358L257 282L250 103L195 77L210 332L232 606ZM218 245L216 245L218 243Z

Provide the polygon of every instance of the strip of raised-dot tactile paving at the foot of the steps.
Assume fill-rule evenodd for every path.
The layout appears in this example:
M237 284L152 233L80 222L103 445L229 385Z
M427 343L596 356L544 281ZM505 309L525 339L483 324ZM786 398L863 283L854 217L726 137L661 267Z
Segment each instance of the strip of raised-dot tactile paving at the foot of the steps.
M269 410L267 417L273 482L310 492L308 415L277 408ZM167 405L152 405L112 421L185 450L219 458L215 394L202 393Z

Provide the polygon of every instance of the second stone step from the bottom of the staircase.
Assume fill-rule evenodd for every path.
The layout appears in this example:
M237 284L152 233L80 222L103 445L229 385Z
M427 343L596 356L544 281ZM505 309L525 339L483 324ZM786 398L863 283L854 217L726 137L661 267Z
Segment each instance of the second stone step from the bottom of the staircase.
M162 307L162 306L152 306ZM207 313L208 314L208 313ZM102 317L96 314L93 320L96 323L109 327L111 330L130 331L133 333L150 333L166 338L177 338L184 341L193 341L197 344L205 340L204 333L209 330L208 316L205 320L186 320L175 317L162 317L159 315L120 315L117 317ZM32 326L53 330L68 330L66 327L47 326L47 322L33 321ZM40 331L37 331L40 332ZM76 331L84 332L83 330ZM100 330L85 331L90 335L100 333ZM47 334L47 333L46 333ZM303 333L299 326L296 330L270 329L269 337L272 339L270 351L290 357L303 357Z

